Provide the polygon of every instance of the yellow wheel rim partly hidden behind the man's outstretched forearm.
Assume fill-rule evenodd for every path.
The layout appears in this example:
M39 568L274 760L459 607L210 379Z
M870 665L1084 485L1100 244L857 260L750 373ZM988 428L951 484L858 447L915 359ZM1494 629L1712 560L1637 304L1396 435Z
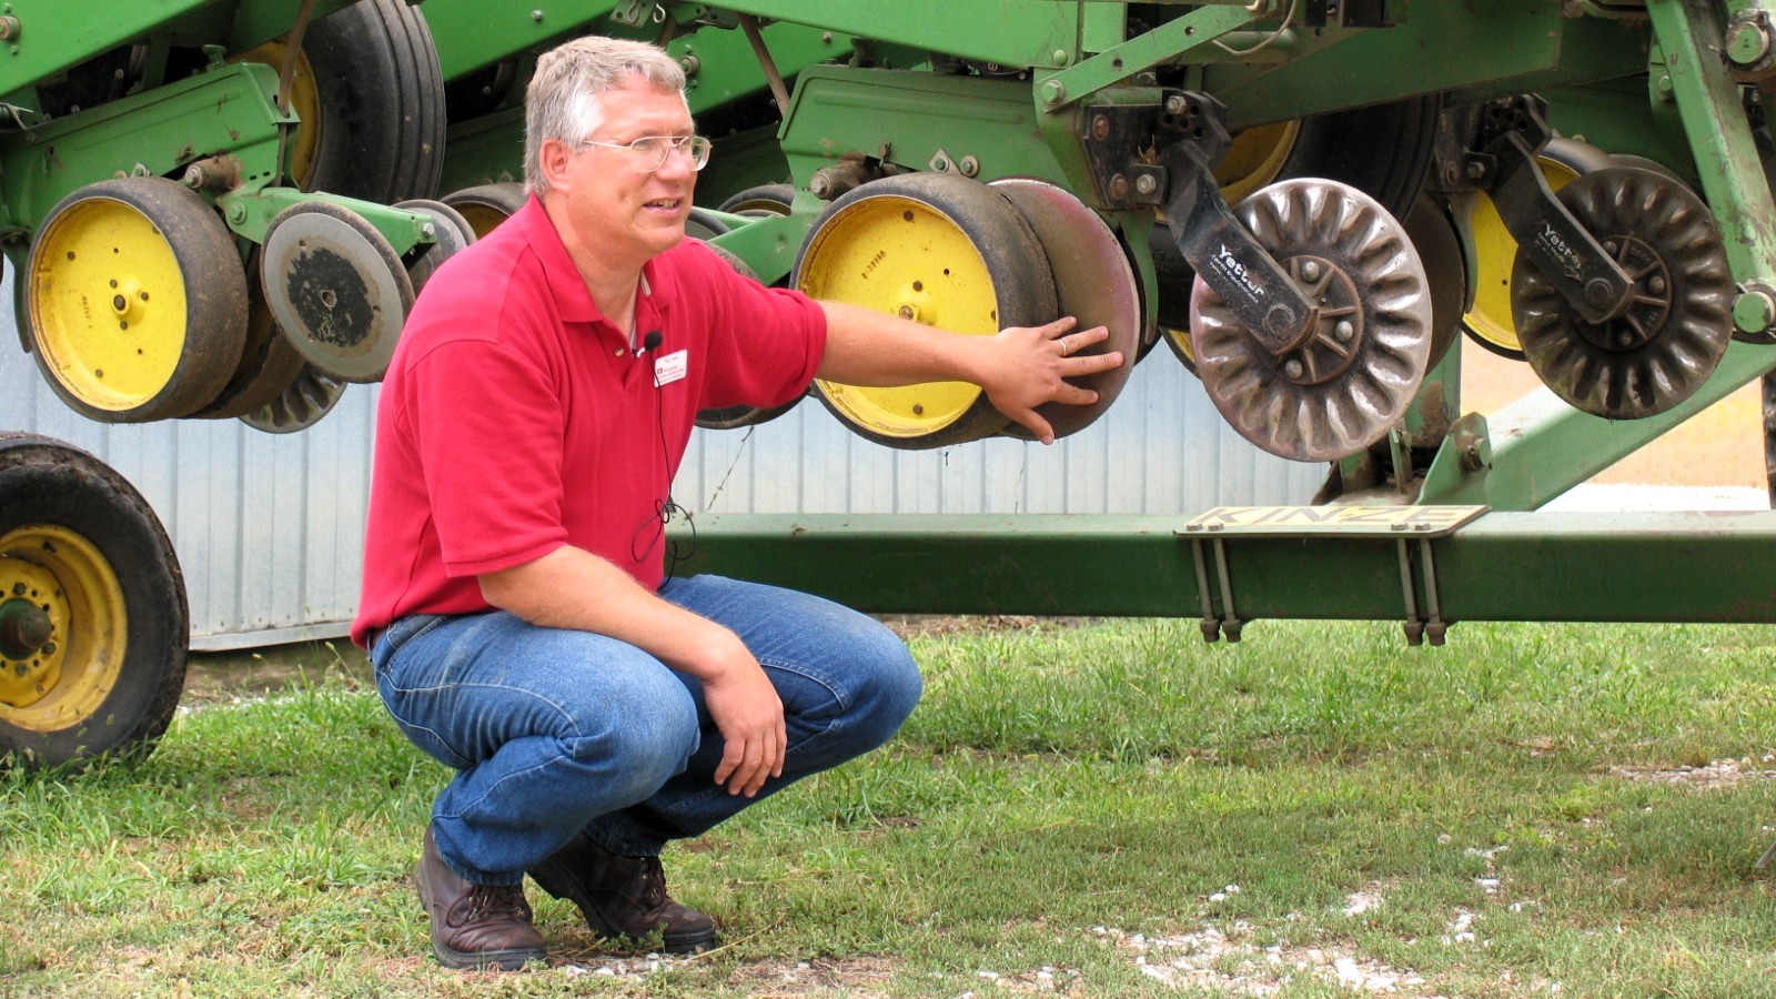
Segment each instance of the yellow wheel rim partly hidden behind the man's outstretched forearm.
M909 197L863 197L828 219L808 242L799 288L955 332L1000 329L993 276L973 240L954 219ZM817 384L847 420L884 437L941 430L980 398L980 388L968 382Z

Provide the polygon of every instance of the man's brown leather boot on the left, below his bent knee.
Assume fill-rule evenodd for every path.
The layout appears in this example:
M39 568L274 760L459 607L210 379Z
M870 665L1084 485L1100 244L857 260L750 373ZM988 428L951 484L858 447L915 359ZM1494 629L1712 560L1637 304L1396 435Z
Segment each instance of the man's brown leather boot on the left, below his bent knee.
M426 827L426 848L414 869L419 903L432 917L432 953L451 969L519 971L549 956L531 924L524 885L474 885L456 876Z

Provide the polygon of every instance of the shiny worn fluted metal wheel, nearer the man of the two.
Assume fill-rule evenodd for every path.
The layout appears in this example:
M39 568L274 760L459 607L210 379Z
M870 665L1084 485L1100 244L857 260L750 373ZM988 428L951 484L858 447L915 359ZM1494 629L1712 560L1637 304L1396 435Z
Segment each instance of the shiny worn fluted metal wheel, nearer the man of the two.
M1273 356L1199 277L1192 354L1215 407L1245 439L1295 460L1334 460L1382 439L1412 404L1431 350L1431 299L1412 240L1360 190L1288 180L1234 215L1318 309Z

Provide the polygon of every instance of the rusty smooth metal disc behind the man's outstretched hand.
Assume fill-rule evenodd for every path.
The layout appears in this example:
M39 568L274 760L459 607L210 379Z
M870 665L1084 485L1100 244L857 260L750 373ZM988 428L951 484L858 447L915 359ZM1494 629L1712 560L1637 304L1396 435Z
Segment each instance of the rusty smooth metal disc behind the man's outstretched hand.
M1080 350L1080 354L1122 352L1122 363L1108 372L1071 379L1073 384L1098 393L1090 405L1050 402L1037 407L1043 420L1055 428L1055 437L1066 437L1089 427L1103 416L1130 373L1140 348L1140 286L1130 267L1122 244L1110 226L1060 187L1034 178L1005 178L989 183L1023 213L1043 244L1043 254L1055 274L1055 299L1060 315L1074 316L1073 329L1105 327L1110 336ZM1000 432L1005 437L1034 441L1021 423L1011 423Z

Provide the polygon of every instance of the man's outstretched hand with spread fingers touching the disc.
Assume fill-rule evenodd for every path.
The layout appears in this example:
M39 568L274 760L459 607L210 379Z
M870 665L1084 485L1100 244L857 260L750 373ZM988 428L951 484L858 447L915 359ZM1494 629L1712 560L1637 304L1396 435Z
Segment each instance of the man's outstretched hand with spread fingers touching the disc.
M1027 427L1044 444L1055 443L1055 428L1035 407L1048 402L1067 405L1098 402L1096 391L1062 379L1096 375L1122 364L1121 350L1080 356L1087 347L1106 340L1110 331L1096 325L1074 332L1074 325L1078 320L1062 316L1048 325L1002 329L993 338L991 359L980 375L987 402Z

